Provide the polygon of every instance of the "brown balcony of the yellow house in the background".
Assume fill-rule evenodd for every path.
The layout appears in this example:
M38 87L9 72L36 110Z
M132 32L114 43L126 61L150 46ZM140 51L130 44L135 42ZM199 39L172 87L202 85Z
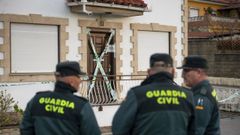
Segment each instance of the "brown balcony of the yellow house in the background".
M240 20L219 16L196 16L188 19L189 38L216 38L239 35Z

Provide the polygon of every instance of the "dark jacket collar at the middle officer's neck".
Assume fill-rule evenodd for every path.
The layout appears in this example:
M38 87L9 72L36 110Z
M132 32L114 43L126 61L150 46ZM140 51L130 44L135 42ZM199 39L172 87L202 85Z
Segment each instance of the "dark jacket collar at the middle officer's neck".
M159 72L159 73L156 73L154 75L151 75L151 76L147 77L141 83L141 85L150 84L152 82L167 82L167 81L173 82L173 75L171 75L168 72Z

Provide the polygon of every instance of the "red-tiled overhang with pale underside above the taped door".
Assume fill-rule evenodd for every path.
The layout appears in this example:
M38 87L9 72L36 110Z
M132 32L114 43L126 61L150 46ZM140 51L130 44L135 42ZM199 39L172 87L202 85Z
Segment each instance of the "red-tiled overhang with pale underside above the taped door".
M131 17L150 11L142 0L68 0L67 5L73 13L88 15Z

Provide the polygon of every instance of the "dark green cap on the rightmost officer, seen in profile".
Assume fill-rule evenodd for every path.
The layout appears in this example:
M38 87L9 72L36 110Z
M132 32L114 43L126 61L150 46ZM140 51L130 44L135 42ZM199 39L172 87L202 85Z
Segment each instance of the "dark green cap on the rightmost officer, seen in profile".
M207 60L200 56L188 56L183 60L183 65L177 69L201 68L208 69Z

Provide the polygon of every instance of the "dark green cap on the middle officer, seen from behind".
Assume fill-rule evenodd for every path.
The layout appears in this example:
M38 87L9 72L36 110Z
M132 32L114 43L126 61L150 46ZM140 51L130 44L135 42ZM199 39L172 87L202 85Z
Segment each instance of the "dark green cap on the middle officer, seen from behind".
M150 67L154 67L156 62L163 62L164 66L172 67L173 59L167 53L154 53L150 57Z

